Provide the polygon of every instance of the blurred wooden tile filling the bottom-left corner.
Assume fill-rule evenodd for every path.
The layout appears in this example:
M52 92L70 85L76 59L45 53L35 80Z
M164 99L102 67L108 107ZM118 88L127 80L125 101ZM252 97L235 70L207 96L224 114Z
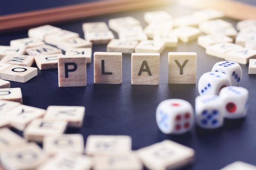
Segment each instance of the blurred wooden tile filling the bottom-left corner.
M35 170L47 157L34 143L27 144L0 155L2 166L7 170Z

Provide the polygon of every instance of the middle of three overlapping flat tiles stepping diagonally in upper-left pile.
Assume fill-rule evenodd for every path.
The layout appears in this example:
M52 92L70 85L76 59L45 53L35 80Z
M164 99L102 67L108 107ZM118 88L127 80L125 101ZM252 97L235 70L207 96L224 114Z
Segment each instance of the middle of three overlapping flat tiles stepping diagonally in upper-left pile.
M44 41L47 44L58 46L59 42L63 42L63 41L73 39L73 38L78 38L78 37L79 37L79 33L74 33L72 31L67 31L67 30L61 30L61 31L58 31L58 33L46 35Z

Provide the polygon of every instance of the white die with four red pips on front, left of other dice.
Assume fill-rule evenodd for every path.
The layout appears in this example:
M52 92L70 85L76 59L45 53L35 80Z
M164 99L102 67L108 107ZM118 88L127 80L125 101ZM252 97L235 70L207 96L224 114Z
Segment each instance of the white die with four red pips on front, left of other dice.
M165 134L188 132L194 124L193 107L183 99L164 100L157 106L156 121Z

